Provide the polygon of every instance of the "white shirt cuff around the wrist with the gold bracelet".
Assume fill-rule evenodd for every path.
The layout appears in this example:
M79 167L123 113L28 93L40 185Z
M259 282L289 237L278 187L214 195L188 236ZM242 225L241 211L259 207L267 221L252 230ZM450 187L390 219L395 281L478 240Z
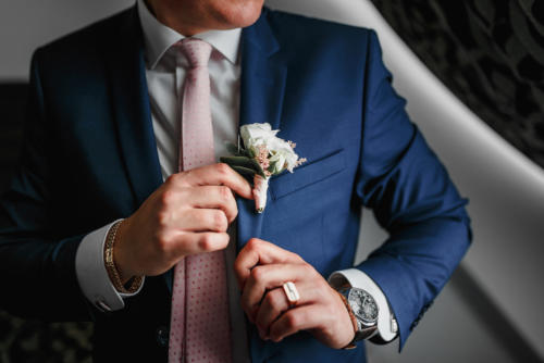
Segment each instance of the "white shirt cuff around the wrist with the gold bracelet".
M79 287L85 297L101 311L123 309L125 306L123 298L135 296L144 286L141 283L134 293L120 293L110 280L103 261L103 249L108 231L118 221L85 236L75 255L75 272Z

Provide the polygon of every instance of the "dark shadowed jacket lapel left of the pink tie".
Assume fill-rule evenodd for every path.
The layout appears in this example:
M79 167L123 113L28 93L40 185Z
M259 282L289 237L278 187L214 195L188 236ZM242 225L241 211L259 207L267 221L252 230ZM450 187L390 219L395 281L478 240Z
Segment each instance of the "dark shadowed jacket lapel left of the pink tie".
M162 184L136 7L127 12L121 23L119 36L110 47L108 71L113 100L112 113L136 210Z

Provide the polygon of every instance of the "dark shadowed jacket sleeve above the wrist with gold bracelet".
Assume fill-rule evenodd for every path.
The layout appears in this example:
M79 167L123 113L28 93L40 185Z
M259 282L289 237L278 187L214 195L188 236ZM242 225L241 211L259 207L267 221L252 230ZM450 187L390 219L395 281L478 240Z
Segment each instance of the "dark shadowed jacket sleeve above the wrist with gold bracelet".
M54 217L47 105L38 50L32 61L29 102L20 168L0 199L0 306L48 321L91 318L79 289L75 255L84 235ZM57 176L62 177L62 176Z

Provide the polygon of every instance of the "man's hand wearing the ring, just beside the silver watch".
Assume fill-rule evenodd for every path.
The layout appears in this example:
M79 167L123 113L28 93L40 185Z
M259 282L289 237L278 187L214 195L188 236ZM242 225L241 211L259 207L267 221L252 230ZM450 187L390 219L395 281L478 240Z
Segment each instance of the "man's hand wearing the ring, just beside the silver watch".
M281 341L308 330L331 348L344 348L355 330L339 295L298 254L252 238L239 252L234 270L243 291L242 308L262 339ZM293 281L300 295L292 306L283 284Z

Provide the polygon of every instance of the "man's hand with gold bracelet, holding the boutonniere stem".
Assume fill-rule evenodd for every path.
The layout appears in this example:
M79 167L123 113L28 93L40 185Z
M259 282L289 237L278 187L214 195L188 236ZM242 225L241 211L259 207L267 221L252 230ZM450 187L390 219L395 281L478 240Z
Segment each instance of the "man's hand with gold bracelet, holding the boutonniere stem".
M238 214L233 192L252 199L249 183L226 164L170 176L118 230L113 255L123 283L226 248L226 228Z

